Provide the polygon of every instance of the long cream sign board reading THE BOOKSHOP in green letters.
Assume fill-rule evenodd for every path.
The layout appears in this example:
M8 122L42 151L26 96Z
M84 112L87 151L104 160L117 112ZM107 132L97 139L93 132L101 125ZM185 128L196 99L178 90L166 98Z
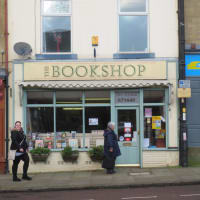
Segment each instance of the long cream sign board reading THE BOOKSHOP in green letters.
M166 79L165 61L27 62L24 80Z

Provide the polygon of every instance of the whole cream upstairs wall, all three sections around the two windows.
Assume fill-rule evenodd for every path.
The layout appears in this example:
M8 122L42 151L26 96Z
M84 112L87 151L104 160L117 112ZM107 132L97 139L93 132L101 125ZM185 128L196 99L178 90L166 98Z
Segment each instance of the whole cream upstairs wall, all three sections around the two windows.
M16 42L27 42L41 52L40 0L9 1L9 57ZM156 57L178 57L177 3L149 0L149 45ZM72 0L72 53L92 58L91 37L99 36L97 58L112 58L118 52L118 1Z

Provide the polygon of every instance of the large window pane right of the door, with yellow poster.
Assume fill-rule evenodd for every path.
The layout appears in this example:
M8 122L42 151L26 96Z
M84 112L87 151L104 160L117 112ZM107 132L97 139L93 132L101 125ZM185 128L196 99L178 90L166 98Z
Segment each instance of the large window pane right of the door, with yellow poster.
M166 147L166 115L164 106L144 107L144 148Z

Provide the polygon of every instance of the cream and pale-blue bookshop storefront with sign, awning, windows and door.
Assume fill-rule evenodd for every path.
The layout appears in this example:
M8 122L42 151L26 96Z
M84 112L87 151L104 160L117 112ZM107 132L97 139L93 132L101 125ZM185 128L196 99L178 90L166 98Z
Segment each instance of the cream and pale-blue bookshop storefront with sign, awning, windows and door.
M109 121L116 124L122 152L117 165L178 165L172 69L176 73L176 63L166 61L14 64L12 123L23 122L29 149L52 151L50 165L31 162L30 170L72 170L60 157L66 146L80 151L73 170L99 168L87 151L103 145Z

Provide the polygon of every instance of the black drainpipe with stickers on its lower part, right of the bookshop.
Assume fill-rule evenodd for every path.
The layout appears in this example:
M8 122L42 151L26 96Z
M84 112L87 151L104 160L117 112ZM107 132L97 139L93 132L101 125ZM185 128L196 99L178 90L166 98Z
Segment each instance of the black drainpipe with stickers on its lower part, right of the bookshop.
M185 22L184 0L178 0L178 27L179 27L179 80L185 80ZM188 166L188 135L186 124L186 98L180 99L180 165Z

